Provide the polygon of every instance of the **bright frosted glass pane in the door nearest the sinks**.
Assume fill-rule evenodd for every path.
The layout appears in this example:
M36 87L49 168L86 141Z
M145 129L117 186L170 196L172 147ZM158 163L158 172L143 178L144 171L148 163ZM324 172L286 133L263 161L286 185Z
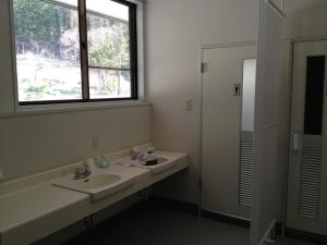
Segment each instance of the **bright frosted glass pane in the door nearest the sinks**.
M254 130L256 59L246 59L243 62L242 89L242 131Z

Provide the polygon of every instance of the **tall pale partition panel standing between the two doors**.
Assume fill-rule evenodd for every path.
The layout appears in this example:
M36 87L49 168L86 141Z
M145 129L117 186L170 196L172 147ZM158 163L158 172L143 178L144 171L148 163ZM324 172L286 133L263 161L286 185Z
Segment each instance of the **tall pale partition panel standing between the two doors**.
M254 121L254 194L251 245L266 243L281 201L279 132L279 46L283 13L274 1L258 0L257 77Z

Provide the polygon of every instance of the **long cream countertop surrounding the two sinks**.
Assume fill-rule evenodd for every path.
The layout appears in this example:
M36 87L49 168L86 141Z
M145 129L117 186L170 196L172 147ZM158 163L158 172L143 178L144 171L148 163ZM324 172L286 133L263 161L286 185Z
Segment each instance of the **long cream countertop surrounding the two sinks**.
M125 159L124 152L130 152L130 149L106 157L110 160ZM156 175L149 169L125 168L116 163L109 169L96 169L97 172L108 172L110 168L114 171L123 168L125 174L135 177L135 184L131 188L97 203L92 203L88 194L51 185L53 180L72 174L81 162L0 185L0 244L33 243L187 168L186 154L158 151L158 156L177 161L175 167Z

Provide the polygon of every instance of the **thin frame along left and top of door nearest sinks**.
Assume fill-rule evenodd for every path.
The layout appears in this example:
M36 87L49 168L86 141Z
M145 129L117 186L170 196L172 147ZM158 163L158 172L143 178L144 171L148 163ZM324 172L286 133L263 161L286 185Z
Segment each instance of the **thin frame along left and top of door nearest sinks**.
M202 216L202 207L203 207L203 73L205 68L203 68L204 63L204 51L207 49L217 49L217 48L237 48L237 47L247 47L247 46L257 46L256 40L241 41L241 42L223 42L217 45L202 45L198 50L198 108L199 108L199 126L198 126L198 143L199 143L199 173L198 173L198 217Z

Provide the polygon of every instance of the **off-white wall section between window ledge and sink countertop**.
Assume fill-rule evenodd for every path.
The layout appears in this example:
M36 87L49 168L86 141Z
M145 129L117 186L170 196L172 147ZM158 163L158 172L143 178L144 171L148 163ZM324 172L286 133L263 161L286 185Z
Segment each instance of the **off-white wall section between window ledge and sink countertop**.
M0 135L0 169L10 180L150 142L150 107L2 118Z

